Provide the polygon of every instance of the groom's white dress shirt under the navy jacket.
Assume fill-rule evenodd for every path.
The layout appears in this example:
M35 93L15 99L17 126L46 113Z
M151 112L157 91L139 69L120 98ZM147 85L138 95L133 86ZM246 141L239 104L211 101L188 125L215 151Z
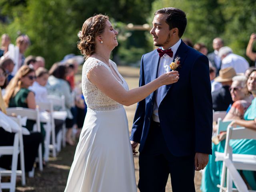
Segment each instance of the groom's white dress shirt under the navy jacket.
M178 40L178 42L171 47L172 52L173 52L172 57L168 56L167 54L164 54L164 56L162 56L160 58L159 65L158 65L157 77L170 71L170 64L174 60L174 56L178 50L178 47L180 46L180 43L181 43L181 40ZM161 47L161 49L163 50L162 47ZM153 109L153 114L152 114L153 121L155 121L155 122L160 122L159 117L158 117L158 107L159 107L161 101L163 100L162 97L163 97L165 89L166 89L166 86L164 85L164 86L159 87L156 90L156 97L154 100L154 109Z

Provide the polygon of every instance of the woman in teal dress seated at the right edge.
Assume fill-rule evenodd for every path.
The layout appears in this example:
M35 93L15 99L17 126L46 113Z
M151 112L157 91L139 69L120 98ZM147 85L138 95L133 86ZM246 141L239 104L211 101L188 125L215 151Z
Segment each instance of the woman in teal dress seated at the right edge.
M251 71L247 80L248 90L252 93L254 99L252 104L246 110L244 114L244 120L233 120L231 126L242 126L250 128L256 131L256 68ZM256 154L256 140L240 139L231 140L230 146L233 148L234 154ZM208 165L205 168L205 172L202 176L201 190L202 192L218 192L219 188L217 184L220 184L222 162L215 162L215 151L224 152L225 140L219 144L212 144L212 155L209 157ZM252 188L256 190L256 174L253 171L241 171L246 182Z

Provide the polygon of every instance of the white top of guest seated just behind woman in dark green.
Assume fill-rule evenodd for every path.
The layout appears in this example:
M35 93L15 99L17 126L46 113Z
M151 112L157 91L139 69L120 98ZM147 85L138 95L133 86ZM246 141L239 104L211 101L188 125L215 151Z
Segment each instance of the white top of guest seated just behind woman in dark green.
M28 89L34 92L36 102L48 102L46 87L41 86L38 82L35 81L33 85Z

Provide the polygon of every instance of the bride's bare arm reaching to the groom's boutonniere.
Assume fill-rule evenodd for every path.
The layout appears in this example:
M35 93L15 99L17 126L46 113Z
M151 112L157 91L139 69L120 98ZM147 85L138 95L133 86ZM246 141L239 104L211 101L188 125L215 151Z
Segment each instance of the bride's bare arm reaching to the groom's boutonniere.
M160 86L177 82L179 79L179 74L177 73L177 71L165 73L144 86L128 91L120 85L116 78L104 66L94 67L88 72L87 77L90 82L96 85L108 97L122 105L130 106L143 100Z

